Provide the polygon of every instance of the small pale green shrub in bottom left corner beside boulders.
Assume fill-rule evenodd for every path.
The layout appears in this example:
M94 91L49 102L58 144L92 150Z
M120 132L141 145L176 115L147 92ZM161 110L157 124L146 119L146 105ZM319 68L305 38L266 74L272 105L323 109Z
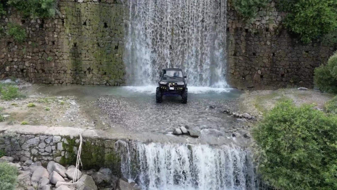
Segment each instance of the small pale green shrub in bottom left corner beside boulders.
M18 169L6 162L0 162L0 190L14 190L17 185Z

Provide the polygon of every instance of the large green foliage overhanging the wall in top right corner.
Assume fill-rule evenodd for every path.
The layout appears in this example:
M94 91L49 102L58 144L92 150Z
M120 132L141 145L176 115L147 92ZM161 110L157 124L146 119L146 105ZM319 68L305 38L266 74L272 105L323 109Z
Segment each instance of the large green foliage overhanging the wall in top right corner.
M286 28L298 34L303 43L337 31L335 0L282 0L278 9L287 12Z

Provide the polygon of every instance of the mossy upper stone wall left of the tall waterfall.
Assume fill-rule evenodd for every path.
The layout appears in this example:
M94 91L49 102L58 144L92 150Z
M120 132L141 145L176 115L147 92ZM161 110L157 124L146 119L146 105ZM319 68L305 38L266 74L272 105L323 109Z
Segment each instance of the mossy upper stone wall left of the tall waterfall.
M22 25L28 38L17 43L1 33L0 78L13 76L47 84L124 83L126 5L115 0L60 0L55 19L25 19L15 10L0 19Z

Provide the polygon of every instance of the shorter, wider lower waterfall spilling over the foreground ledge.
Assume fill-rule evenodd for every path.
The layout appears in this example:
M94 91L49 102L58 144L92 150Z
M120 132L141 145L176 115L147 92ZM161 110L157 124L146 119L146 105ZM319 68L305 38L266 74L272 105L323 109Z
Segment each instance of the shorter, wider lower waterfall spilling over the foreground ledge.
M124 177L143 190L258 190L252 155L237 146L117 141Z

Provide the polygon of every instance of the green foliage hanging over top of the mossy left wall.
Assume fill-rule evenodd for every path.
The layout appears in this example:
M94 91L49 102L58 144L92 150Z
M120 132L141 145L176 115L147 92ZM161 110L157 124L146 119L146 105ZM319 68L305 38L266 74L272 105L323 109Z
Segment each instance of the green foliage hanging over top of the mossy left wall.
M21 11L24 17L51 18L57 11L56 0L8 0L7 4Z

